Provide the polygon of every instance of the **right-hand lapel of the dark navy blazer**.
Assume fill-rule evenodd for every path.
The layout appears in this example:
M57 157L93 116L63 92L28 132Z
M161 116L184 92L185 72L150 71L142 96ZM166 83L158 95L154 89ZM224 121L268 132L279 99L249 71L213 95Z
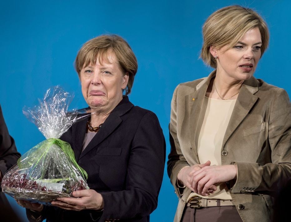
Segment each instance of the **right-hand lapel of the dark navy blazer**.
M126 113L128 110L130 110L133 106L134 105L131 102L129 102L127 96L124 99L122 99L120 104L118 104L116 108L113 109L113 111L106 118L105 122L103 123L98 133L96 133L96 135L89 142L87 147L85 147L84 151L81 152L79 159L84 157L89 151L91 151L98 144L100 144L104 139L106 139L121 124L122 122L121 116L124 113ZM84 128L86 131L86 126ZM83 140L84 140L84 137L83 137ZM82 145L81 145L81 149L82 149Z

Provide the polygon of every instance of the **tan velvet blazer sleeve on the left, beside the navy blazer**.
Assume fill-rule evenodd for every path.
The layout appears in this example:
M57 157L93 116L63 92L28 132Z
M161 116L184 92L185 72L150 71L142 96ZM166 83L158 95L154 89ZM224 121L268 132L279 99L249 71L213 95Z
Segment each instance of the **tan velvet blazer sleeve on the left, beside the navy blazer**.
M169 131L170 131L170 146L171 151L169 154L168 160L168 175L170 177L170 181L175 188L175 193L179 197L183 195L185 188L178 187L177 184L177 176L180 170L185 167L189 166L188 162L186 161L183 153L181 151L181 147L179 144L179 140L177 137L177 91L179 86L176 87L172 102L171 102L171 117L170 117L170 124L169 124Z

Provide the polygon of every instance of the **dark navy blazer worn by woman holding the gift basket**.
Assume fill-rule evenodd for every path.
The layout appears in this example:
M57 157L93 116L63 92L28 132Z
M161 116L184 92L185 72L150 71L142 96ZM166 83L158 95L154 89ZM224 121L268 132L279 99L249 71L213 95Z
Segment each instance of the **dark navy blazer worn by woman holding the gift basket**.
M165 138L156 115L124 97L83 152L88 118L62 140L88 173L88 186L101 193L104 210L68 211L46 207L47 221L149 221L157 207L165 164Z

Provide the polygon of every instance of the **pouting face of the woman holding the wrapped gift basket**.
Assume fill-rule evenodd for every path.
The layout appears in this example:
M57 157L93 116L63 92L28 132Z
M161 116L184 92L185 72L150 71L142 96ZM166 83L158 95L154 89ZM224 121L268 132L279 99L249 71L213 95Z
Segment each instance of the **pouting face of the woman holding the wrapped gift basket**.
M123 75L114 53L108 53L108 61L96 60L80 72L82 94L91 109L111 112L122 99L128 75Z

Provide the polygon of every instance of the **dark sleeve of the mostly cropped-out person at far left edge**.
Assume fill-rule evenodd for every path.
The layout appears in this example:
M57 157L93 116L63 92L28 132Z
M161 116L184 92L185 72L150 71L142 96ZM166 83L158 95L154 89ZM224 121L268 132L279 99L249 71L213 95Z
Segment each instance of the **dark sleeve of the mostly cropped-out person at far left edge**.
M2 176L16 164L20 153L17 152L14 139L9 135L0 106L0 171Z

